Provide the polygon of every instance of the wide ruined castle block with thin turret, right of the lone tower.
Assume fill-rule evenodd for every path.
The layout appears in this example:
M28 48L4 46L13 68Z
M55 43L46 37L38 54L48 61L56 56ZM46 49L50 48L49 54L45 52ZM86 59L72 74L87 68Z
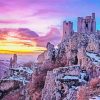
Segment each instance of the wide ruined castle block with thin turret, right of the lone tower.
M95 13L92 13L92 16L86 16L85 18L78 17L77 32L88 34L96 32Z

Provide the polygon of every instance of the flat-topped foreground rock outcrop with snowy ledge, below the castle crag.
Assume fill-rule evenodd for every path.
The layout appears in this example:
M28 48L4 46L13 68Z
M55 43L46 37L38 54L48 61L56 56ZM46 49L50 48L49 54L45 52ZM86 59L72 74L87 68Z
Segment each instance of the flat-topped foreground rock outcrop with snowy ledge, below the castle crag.
M86 83L86 72L80 66L56 68L48 71L42 90L42 100L77 100L77 87Z

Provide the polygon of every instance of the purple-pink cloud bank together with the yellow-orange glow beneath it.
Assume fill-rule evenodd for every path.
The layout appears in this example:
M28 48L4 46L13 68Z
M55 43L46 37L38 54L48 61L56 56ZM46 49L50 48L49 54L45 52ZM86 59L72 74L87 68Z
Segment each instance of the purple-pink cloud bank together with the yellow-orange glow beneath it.
M36 53L46 50L47 42L57 44L61 33L52 27L45 36L38 36L29 29L0 29L0 53Z

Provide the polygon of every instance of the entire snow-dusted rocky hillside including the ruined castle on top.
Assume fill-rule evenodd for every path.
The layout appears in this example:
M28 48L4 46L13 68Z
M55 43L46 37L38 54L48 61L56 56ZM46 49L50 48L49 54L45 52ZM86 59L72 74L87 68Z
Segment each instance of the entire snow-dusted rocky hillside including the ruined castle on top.
M29 72L25 66L18 69L14 63L15 67L10 68L12 80L20 85L13 85L12 81L11 87L5 87L9 91L4 93L1 84L9 78L2 80L1 99L100 100L100 31L96 30L95 13L78 17L77 32L71 21L64 21L62 41L57 46L48 42L46 48ZM23 75L25 81L14 78Z

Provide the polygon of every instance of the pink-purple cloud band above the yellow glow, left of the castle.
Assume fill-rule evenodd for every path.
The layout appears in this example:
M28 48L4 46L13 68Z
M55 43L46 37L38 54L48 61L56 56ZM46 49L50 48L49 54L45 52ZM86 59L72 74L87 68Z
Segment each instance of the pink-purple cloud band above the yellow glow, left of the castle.
M4 29L0 30L0 40L6 40L7 38L13 38L14 43L23 44L27 46L33 46L33 42L36 42L37 46L45 47L47 42L58 44L61 41L61 33L55 28L51 27L50 31L45 36L38 36L35 32L31 32L28 29ZM9 34L12 32L12 34ZM8 41L9 42L9 41ZM9 42L10 43L10 42Z

